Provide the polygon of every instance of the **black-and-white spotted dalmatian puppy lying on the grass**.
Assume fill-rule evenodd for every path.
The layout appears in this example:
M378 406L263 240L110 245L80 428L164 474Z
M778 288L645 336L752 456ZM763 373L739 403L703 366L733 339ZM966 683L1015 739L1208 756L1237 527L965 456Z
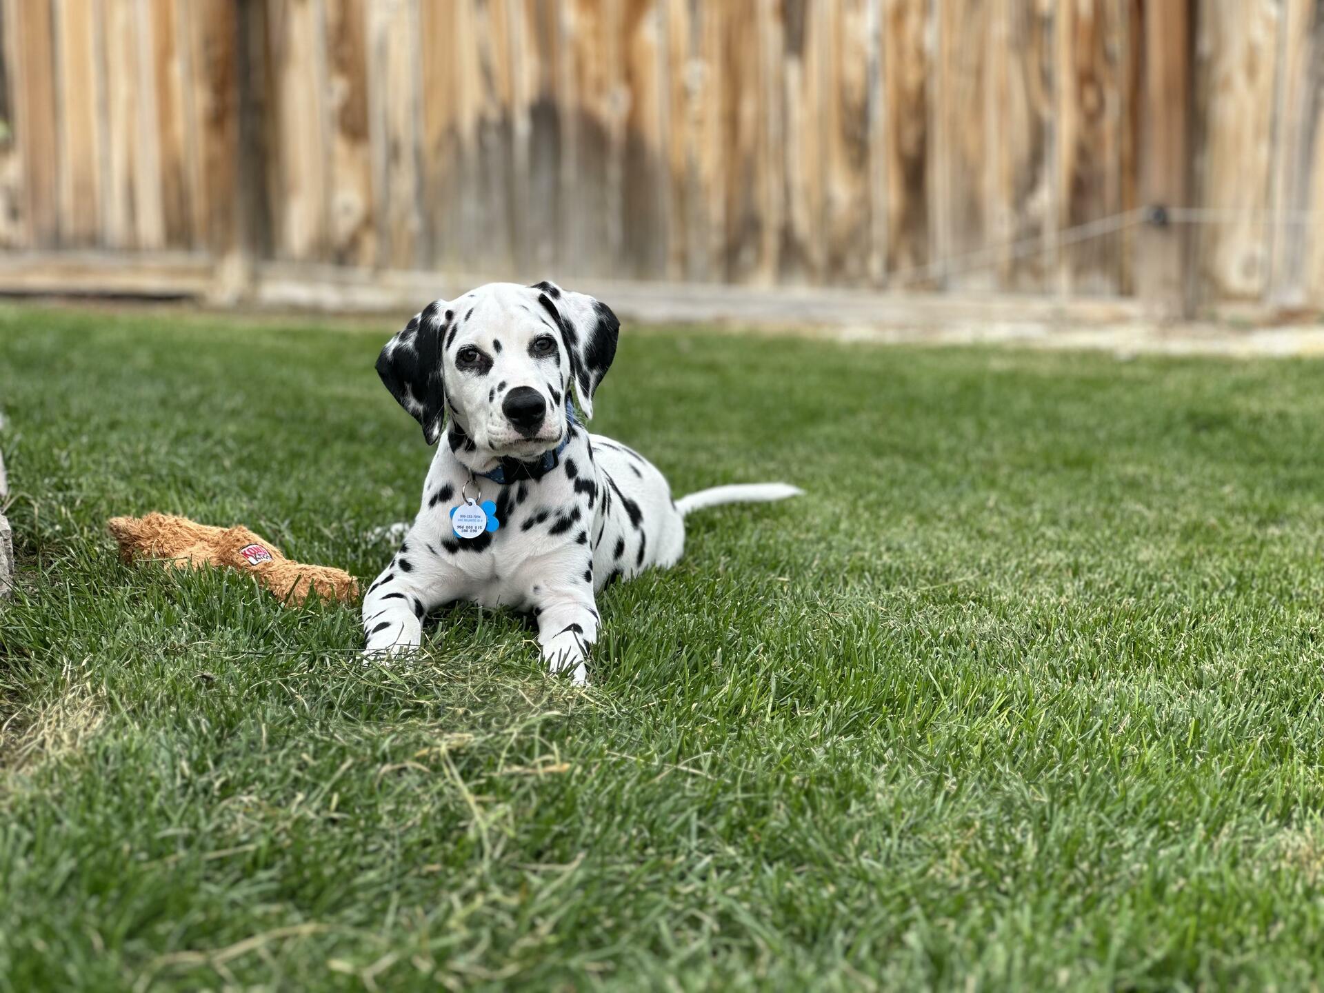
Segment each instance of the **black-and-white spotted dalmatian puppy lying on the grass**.
M429 445L445 438L413 526L364 594L369 654L416 647L429 610L471 600L532 613L549 671L583 683L596 591L674 564L690 511L800 493L719 486L674 502L647 459L589 434L571 391L591 418L618 330L605 303L555 283L487 283L428 305L381 350L387 389Z

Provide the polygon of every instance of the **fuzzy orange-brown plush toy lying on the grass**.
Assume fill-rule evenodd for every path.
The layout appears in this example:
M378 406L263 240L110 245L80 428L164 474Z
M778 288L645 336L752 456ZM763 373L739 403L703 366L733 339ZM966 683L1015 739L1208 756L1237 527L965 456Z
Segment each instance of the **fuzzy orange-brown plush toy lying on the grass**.
M111 518L109 527L126 561L166 559L179 568L228 565L252 572L287 604L302 604L310 589L336 600L351 600L359 593L348 572L290 561L274 544L242 524L208 527L188 518L154 512L146 518Z

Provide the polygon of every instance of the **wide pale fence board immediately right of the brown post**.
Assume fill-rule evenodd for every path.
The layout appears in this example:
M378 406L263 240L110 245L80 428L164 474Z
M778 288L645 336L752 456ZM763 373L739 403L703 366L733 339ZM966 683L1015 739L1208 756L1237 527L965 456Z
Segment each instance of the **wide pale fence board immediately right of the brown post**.
M1200 289L1219 297L1258 299L1267 286L1279 11L1270 0L1200 0L1196 193L1229 216L1197 226L1194 245Z

